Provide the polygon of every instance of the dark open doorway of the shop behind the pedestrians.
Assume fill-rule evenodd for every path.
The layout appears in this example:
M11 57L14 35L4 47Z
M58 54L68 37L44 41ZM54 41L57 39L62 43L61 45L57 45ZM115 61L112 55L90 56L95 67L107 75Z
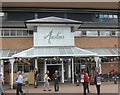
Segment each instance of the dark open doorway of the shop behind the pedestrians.
M49 71L49 77L52 79L52 75L55 73L55 70L59 71L59 74L61 76L61 72L62 72L62 66L61 65L47 65L47 70Z

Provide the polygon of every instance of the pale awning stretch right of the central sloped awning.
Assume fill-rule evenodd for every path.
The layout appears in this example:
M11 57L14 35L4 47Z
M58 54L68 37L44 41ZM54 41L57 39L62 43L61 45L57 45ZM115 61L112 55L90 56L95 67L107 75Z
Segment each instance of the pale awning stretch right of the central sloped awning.
M94 52L97 56L120 56L120 48L85 48Z

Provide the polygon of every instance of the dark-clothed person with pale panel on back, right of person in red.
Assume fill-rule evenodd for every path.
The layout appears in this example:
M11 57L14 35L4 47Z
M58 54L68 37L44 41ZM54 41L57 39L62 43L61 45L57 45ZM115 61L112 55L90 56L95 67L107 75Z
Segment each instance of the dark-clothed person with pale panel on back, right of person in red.
M98 72L95 76L95 85L97 89L97 95L100 95L101 75Z

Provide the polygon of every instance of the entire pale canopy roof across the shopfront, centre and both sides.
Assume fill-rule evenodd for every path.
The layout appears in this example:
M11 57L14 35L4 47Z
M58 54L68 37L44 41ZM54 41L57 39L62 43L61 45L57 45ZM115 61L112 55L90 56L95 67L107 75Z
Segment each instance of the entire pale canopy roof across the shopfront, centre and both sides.
M39 50L40 49L40 50ZM87 52L86 52L87 51ZM89 52L88 52L89 51ZM16 50L8 50L8 49L3 49L0 50L0 59L9 59L9 58L13 58L13 57L23 57L23 55L28 55L28 54L34 54L35 52L40 53L39 56L45 56L45 54L47 54L48 52L50 52L50 54L52 54L51 56L72 56L74 53L74 56L87 56L86 54L89 54L90 56L93 56L93 54L95 54L96 56L99 57L109 57L109 56L120 56L120 48L84 48L84 49L80 49L77 47L37 47L37 48L31 48L28 50L25 49L16 49ZM58 53L56 53L58 52ZM77 54L75 54L76 52L78 52ZM57 55L55 55L55 53ZM86 53L86 54L85 54ZM35 55L32 55L35 56ZM31 56L31 57L32 57ZM43 57L44 57L43 56ZM49 56L49 54L48 54ZM26 57L30 57L30 56L26 56Z

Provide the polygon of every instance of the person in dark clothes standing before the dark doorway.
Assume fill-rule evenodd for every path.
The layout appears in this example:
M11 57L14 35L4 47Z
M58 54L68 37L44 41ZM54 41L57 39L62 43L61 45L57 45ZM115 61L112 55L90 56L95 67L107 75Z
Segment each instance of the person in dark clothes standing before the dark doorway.
M55 73L52 75L52 78L54 79L54 90L55 92L59 92L60 75L58 70L55 70Z

